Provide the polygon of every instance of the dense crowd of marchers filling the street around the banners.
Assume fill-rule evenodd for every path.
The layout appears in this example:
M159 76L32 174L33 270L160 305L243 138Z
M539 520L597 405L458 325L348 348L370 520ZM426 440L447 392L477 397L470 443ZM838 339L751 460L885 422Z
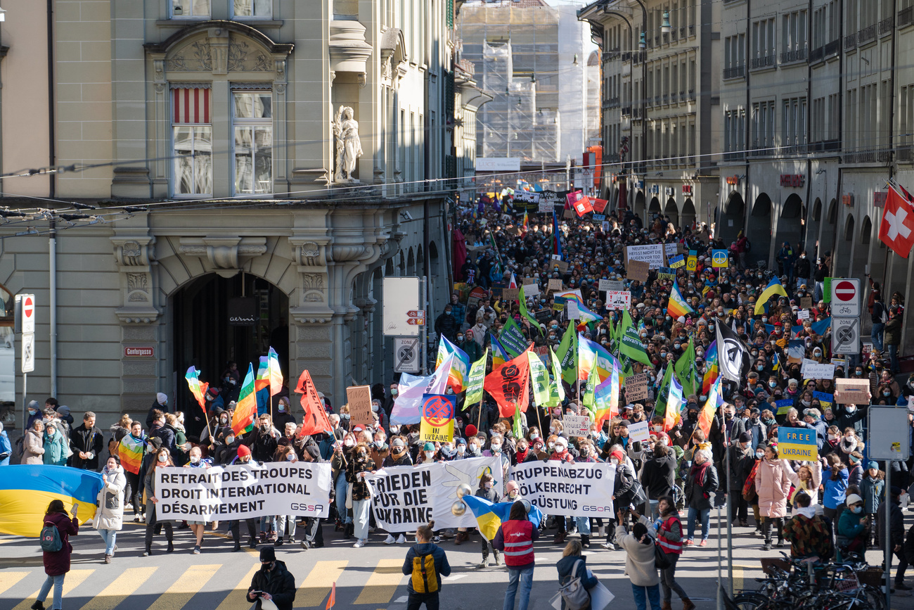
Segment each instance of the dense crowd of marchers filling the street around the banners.
M32 401L27 433L16 451L0 430L0 458L5 455L0 464L18 455L24 464L101 468L105 487L92 525L105 540L104 561L110 562L117 549L116 532L122 528L125 506L133 508L135 521L145 523L146 554L154 552L154 537L162 530L166 551L174 551L173 522L156 515L154 472L158 467L328 462L335 481L335 509L330 520L340 536L355 540L354 546L359 548L376 529L365 473L388 466L499 456L505 486L494 488L492 478L484 476L475 491L477 496L498 502L522 499L519 487L508 476L512 465L533 460L608 462L616 466L615 519L549 517L537 528L531 527L522 514L524 504L516 503L499 535L491 541L481 540L480 566L490 565L490 551L494 562L500 563L504 551L510 574L506 610L514 607L515 594L521 610L526 608L533 541L550 529L555 530L554 543L567 543L565 556L558 563L561 580L581 576L586 589L595 586L596 579L587 572L586 564L582 565L580 552L602 539L601 548L625 552L639 610L648 603L654 610L668 610L674 592L685 610L693 608L675 581L676 560L690 545L707 545L710 511L724 505L728 497L734 535L760 536L763 551L786 542L795 556L859 556L866 548L882 544L885 537L880 532L887 528L891 551L898 559L895 585L909 589L904 577L908 563L914 562L914 528L906 535L900 503L907 496L912 465L868 459L864 429L867 405L840 403L834 398L834 379L803 379L801 362L788 354L789 343L800 340L803 359L834 361L835 378L867 380L873 404L908 404L914 395L914 378L898 376L899 328L904 315L900 294L888 296L886 305L880 286L871 280L866 306L874 323L873 349L866 358L833 360L831 330L824 324L830 316L824 301L828 252L815 254L813 262L802 244L795 249L785 244L777 257L784 294L762 299L772 274L747 266L752 244L742 233L734 243L725 244L705 223L676 227L660 215L645 223L631 212L607 215L603 221L572 218L560 223L552 217L531 214L530 220L525 216L522 223L523 212L511 209L506 202L480 202L460 208L458 214L468 253L455 277L460 289L435 320L437 333L462 348L473 361L483 356L509 320L519 325L525 339L536 347L558 347L570 328L612 349L612 328L619 324L622 312L606 307L598 286L600 280L621 281L631 292L628 313L650 360L650 364L635 362L632 366L634 373L647 375L647 397L621 404L616 416L591 421L586 436L572 436L564 430L563 416L589 413L583 405L581 382L569 384L557 379L564 384L566 398L548 408L531 404L526 409L522 434L515 434L512 422L499 416L492 397L486 395L481 402L466 404L459 394L452 441L430 443L420 440L419 424L391 423L398 384L377 384L372 387L374 425L351 425L348 406L335 409L321 395L333 430L299 436L289 399L279 396L260 405L250 433L236 436L231 415L238 372L229 365L221 390L214 387L207 392L206 415L196 406L186 412L172 411L167 397L160 393L144 421L124 415L108 433L96 426L92 412L84 413L80 425L74 426L69 409L53 398L43 409ZM675 280L659 276L656 270L646 282L628 279L623 263L625 247L651 243L681 244L681 251L694 252L694 268L690 265L673 270ZM767 244L760 245L767 250ZM712 266L714 250L728 251L728 267ZM553 258L558 252L562 264ZM513 280L518 285L537 285L539 290L527 299L526 311L542 320L540 324L534 325L529 316L522 315L517 302L500 298ZM560 280L564 289L579 290L582 305L596 319L579 326L579 320L569 320L561 307L554 308L550 280ZM668 310L674 282L692 310L685 316L674 316ZM470 297L474 287L484 289L482 298ZM802 304L810 303L807 299L811 305L804 309ZM762 300L764 306L757 310L757 302ZM809 316L801 316L801 312ZM708 400L704 383L684 396L681 419L670 427L655 411L658 403L668 398L664 373L694 353L698 374L703 377L712 367L706 356L710 358L713 352L718 325L732 329L749 348L751 369L739 384L724 384L724 403L715 411L707 433L699 425L699 412ZM832 398L826 401L824 397ZM650 424L650 440L632 441L629 427L645 421ZM819 458L796 462L781 457L781 427L814 431ZM124 448L133 450L136 446L142 446L142 460L126 467L122 463ZM892 469L893 481L888 489L884 480L887 467ZM887 523L884 502L891 504L892 517ZM49 509L49 514L59 512L59 508ZM218 523L209 525L219 529ZM206 526L202 521L177 525L192 530L195 553L202 551ZM237 521L223 524L231 532L235 551L241 548L239 526ZM251 547L259 543L298 543L303 549L324 545L321 519L267 515L247 519L245 526ZM301 536L299 530L303 530ZM577 532L579 539L566 540L572 532ZM509 546L506 533L516 533L510 544L520 546ZM446 575L450 568L446 558L442 562L443 553L434 551L440 550L436 545L441 539L462 544L470 540L470 534L434 530L433 526L420 528L417 546L409 551L413 557L408 556L409 565L404 565L404 573L413 574L410 595L415 593L419 600L410 607L419 607L419 603L433 607L441 585L439 579L432 590L426 578L420 579L420 586L414 560L419 557L422 570ZM405 541L403 534L388 534L384 540L387 544ZM663 552L665 562L654 557L654 544ZM425 563L422 558L426 556L432 558L433 565ZM274 565L275 560L269 557L268 553L267 563ZM658 573L657 567L664 565ZM44 592L39 599L43 601L46 595ZM41 607L41 602L33 607Z

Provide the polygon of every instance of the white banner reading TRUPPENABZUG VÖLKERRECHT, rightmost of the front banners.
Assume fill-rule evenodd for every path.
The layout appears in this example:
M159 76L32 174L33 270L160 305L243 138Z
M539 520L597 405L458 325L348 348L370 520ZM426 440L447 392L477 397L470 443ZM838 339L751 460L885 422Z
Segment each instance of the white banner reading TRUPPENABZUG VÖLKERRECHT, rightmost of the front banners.
M612 487L616 466L565 464L558 461L526 462L513 466L510 478L520 486L520 496L544 515L612 518Z

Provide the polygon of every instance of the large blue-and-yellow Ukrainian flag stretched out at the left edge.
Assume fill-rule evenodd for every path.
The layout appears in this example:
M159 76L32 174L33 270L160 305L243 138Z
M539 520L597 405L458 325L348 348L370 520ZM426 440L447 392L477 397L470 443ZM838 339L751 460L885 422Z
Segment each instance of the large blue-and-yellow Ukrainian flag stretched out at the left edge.
M51 500L80 505L80 523L95 514L101 475L68 466L4 466L0 476L0 532L37 537Z

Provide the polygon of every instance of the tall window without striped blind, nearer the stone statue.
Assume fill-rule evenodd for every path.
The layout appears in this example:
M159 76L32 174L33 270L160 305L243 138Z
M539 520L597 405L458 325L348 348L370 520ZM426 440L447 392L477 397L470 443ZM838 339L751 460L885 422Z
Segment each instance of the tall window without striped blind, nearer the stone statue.
M273 192L271 91L232 91L235 194Z

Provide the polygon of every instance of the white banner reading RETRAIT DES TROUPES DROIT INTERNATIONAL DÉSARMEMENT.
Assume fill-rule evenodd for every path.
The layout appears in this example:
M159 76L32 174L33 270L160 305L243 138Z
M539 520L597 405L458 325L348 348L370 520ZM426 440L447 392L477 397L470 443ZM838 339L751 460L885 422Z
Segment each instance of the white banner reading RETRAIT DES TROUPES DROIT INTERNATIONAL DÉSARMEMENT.
M326 517L329 464L303 462L211 468L156 468L159 519L221 521L263 515Z

